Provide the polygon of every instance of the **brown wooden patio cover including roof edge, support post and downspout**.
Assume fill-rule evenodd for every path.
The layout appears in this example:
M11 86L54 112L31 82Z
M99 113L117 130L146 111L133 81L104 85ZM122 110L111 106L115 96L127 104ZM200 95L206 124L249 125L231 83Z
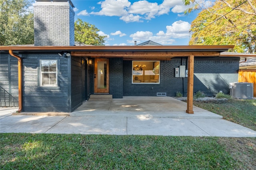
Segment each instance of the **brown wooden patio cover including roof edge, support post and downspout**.
M18 58L22 67L22 52L68 51L71 57L122 57L123 60L171 60L174 57L188 57L188 96L186 113L193 111L194 57L219 57L221 52L233 49L234 45L186 45L186 46L0 46ZM19 59L20 58L20 59ZM18 69L22 71L21 69ZM22 101L22 74L19 75L19 102ZM19 103L19 107L20 104ZM22 106L21 106L22 107ZM21 110L21 108L19 109Z

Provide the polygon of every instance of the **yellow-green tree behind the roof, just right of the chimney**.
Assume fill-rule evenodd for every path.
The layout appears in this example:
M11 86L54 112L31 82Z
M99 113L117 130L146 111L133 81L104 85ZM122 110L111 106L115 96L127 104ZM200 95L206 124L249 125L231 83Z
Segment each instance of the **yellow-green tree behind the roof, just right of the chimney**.
M107 36L99 35L98 31L100 30L94 25L78 18L75 22L75 41L86 45L104 45L104 38Z

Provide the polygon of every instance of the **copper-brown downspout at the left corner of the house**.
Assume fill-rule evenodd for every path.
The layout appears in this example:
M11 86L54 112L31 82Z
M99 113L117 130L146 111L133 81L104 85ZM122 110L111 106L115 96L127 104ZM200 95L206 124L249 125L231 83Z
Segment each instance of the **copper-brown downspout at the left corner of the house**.
M18 59L18 89L19 89L19 109L18 113L22 111L22 59L20 56L13 53L12 50L9 50L9 54Z

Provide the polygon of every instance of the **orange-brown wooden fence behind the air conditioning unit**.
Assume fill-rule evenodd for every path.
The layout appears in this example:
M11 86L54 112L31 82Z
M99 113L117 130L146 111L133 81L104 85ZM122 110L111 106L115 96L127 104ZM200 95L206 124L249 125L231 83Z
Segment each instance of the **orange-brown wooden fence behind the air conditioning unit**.
M238 82L253 83L253 96L256 97L256 69L240 69Z

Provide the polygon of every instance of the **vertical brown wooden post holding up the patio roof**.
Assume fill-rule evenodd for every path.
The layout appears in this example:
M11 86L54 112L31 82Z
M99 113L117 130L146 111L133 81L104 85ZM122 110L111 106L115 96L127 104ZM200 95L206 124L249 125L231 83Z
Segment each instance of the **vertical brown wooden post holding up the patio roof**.
M194 55L188 56L188 96L186 113L193 114Z

